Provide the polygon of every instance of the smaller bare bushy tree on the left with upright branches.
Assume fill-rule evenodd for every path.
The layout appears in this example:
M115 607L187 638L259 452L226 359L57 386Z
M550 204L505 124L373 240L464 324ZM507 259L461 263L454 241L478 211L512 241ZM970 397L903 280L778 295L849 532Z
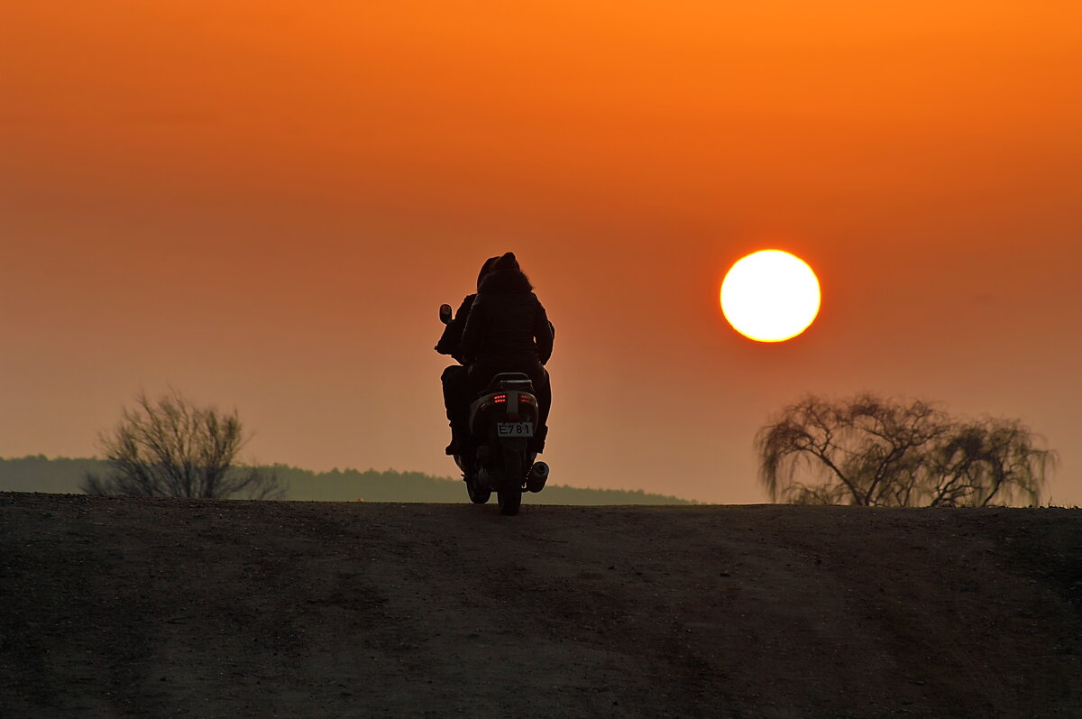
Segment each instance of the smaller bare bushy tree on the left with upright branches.
M175 390L151 402L135 397L111 433L98 436L108 471L87 473L87 494L136 497L280 499L273 471L236 463L246 443L237 410L197 407Z

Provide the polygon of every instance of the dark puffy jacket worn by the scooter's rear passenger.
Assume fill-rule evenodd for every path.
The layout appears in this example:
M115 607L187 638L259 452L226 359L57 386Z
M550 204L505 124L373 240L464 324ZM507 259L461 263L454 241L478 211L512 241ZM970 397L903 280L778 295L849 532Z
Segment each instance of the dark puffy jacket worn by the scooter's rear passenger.
M485 276L462 332L461 350L466 364L528 372L549 362L552 326L532 290L518 269L496 270Z

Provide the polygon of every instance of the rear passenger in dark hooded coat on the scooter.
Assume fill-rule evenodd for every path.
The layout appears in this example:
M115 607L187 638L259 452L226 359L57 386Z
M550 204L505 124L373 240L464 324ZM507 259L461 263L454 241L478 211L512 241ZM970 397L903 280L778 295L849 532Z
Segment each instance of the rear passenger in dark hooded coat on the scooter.
M544 364L552 356L553 328L514 252L496 260L477 286L462 332L469 365L469 392L477 396L500 372L523 372L538 397L538 428L531 452L544 449L552 407L552 384Z

